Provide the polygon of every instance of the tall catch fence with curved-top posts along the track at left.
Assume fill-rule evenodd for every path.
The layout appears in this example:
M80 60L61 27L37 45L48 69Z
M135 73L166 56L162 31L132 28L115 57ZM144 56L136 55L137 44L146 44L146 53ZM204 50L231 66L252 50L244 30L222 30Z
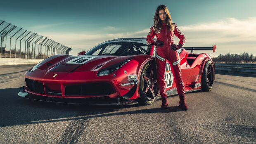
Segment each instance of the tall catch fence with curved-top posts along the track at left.
M72 49L55 40L0 20L0 58L45 59Z

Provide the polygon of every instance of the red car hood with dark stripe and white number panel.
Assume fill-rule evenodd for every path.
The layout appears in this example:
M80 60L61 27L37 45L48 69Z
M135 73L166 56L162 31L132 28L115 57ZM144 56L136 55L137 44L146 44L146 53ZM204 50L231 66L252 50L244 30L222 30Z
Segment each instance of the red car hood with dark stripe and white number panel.
M83 55L83 56L71 56L63 57L62 60L56 63L56 59L51 59L50 61L43 62L43 64L38 67L38 69L45 70L48 72L81 72L81 71L99 71L108 66L114 65L132 56L93 56L93 55Z

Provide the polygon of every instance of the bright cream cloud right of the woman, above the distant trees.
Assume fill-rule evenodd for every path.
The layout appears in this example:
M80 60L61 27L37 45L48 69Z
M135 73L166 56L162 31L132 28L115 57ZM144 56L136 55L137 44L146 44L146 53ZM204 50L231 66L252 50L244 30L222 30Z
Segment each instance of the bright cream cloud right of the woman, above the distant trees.
M216 54L256 54L256 17L244 20L227 18L212 23L179 26L186 37L186 47L217 45ZM178 40L175 39L177 42ZM199 51L202 52L202 51Z

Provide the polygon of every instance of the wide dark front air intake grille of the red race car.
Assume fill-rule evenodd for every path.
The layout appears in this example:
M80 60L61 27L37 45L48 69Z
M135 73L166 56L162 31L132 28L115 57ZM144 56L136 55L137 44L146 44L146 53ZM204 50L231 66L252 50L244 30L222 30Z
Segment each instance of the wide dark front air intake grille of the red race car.
M31 80L25 78L24 91L46 97L88 98L111 97L116 98L119 93L111 82L64 83Z

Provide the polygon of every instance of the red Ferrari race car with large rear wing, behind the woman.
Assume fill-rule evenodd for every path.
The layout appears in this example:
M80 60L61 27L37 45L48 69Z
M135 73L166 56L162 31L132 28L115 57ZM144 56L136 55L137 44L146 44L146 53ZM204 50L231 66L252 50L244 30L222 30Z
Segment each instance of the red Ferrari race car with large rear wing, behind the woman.
M50 102L78 104L153 104L159 96L154 45L146 38L119 38L103 42L78 56L55 55L25 73L26 85L19 96ZM185 91L210 91L215 66L209 54L178 50ZM166 91L176 94L170 65L166 61Z

